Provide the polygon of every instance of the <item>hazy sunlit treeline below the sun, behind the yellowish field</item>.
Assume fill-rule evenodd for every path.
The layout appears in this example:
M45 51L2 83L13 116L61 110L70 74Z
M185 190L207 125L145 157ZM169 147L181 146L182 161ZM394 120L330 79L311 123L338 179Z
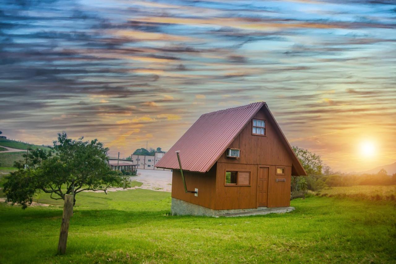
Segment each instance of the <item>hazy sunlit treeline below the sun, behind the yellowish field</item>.
M356 186L356 185L393 185L396 184L396 173L388 175L384 169L377 174L329 174L310 175L306 177L308 189L318 191L326 187Z

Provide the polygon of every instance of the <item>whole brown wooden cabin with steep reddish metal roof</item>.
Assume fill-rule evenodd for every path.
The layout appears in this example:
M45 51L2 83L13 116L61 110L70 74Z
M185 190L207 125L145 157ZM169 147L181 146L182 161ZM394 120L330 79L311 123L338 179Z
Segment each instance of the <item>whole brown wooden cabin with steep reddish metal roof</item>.
M291 175L306 175L265 102L202 115L156 166L173 170L177 214L289 207Z

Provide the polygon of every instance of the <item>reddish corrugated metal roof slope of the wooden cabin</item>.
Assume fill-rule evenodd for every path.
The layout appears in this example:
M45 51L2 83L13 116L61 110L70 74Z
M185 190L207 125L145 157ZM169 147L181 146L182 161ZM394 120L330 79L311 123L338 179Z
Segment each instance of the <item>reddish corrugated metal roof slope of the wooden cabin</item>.
M179 150L183 170L207 172L263 105L251 103L201 115L155 166L178 169L175 152Z

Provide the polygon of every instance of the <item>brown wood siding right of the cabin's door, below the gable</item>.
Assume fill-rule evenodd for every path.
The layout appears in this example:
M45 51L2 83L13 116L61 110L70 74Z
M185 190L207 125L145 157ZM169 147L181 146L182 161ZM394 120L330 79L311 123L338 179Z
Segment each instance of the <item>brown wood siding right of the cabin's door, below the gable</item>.
M276 182L276 179L286 179L286 182ZM290 206L291 167L287 166L285 175L276 175L276 166L270 166L268 175L267 207Z

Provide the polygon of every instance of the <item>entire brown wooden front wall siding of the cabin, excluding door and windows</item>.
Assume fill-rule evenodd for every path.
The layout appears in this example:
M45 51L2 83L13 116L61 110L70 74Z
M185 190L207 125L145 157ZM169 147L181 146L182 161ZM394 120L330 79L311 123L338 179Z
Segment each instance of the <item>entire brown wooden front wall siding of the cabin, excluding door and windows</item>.
M235 138L229 148L240 149L240 157L227 158L225 153L217 160L215 209L257 208L257 172L258 165L267 165L268 195L267 207L290 205L290 181L292 161L286 146L274 130L274 124L268 121L263 110L253 118L265 119L267 136L251 134L250 121ZM275 175L276 166L286 168L285 175ZM250 186L225 186L226 170L250 170ZM276 182L276 178L285 178L286 182Z

